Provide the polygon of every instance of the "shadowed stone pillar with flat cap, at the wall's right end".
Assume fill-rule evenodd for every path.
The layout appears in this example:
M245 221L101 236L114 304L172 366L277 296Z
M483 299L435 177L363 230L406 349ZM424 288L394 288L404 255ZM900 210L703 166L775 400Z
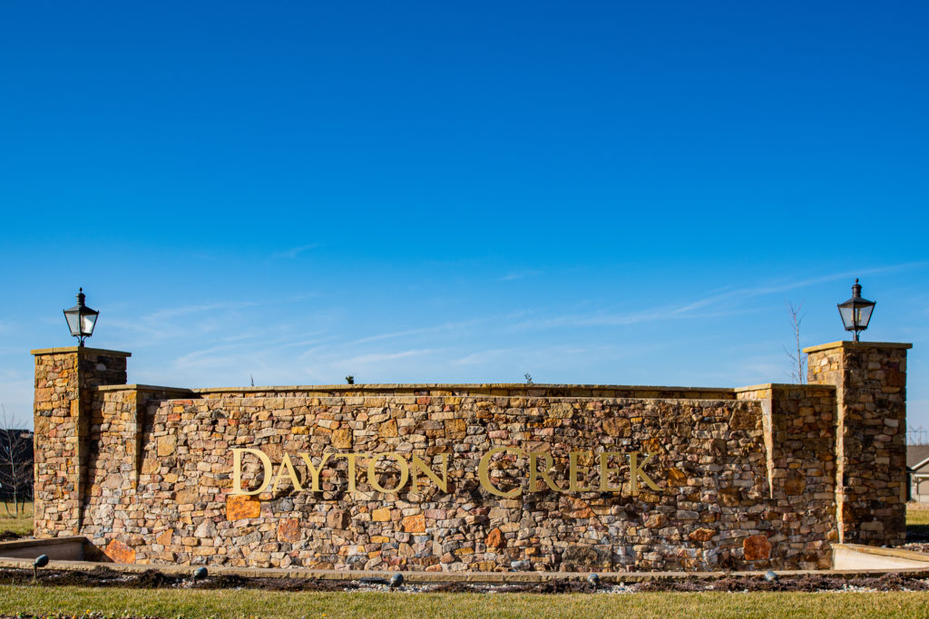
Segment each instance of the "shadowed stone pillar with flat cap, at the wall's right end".
M832 342L804 349L807 381L836 386L839 541L906 540L908 343Z

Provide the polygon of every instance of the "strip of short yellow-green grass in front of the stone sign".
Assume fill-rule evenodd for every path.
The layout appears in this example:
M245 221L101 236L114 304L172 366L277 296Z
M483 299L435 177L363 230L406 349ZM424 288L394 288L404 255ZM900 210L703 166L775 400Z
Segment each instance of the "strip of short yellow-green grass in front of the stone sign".
M925 617L925 593L283 593L0 587L0 613L177 617Z

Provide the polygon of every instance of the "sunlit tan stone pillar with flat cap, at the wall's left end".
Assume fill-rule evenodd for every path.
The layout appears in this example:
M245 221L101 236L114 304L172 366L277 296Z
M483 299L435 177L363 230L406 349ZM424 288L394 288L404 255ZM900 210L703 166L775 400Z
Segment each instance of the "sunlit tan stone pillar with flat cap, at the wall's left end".
M70 346L35 356L35 536L81 529L90 400L99 385L125 384L129 353Z

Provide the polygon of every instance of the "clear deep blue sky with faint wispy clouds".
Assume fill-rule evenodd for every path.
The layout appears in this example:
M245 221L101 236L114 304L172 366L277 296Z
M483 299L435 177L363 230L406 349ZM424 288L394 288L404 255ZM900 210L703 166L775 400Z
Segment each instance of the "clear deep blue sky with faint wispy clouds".
M0 19L0 402L32 348L177 386L789 381L913 342L923 3L18 3Z

